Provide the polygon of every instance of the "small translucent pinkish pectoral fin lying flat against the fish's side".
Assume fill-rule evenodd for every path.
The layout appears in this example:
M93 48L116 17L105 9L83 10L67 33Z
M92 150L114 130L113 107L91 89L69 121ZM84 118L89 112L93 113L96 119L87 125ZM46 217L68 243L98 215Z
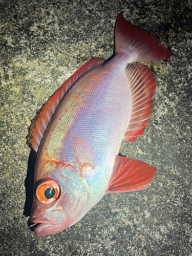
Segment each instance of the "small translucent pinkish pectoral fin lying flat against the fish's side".
M74 150L77 158L77 162L81 169L81 172L86 168L94 168L95 163L95 152L93 146L86 140L75 136L74 137Z

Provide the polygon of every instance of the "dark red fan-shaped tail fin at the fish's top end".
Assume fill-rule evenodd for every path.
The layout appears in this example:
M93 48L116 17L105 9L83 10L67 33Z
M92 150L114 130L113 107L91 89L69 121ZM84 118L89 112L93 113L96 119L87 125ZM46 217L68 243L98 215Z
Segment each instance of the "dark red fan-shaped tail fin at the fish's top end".
M130 62L163 60L173 55L157 37L128 22L123 12L115 25L115 54L118 53L127 55Z

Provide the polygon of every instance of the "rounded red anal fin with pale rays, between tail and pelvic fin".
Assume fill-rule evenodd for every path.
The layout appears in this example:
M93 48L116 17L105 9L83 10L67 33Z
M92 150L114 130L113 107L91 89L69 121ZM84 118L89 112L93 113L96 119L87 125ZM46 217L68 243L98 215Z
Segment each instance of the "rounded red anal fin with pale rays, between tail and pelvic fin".
M133 108L123 139L135 141L143 135L155 108L156 80L152 71L142 64L127 65L125 73L131 84Z

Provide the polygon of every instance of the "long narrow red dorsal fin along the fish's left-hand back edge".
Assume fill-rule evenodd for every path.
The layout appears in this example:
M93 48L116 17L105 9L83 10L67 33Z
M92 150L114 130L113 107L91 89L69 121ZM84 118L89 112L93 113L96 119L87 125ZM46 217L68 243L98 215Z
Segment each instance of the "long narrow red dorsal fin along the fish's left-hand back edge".
M105 61L104 58L95 58L89 60L80 69L78 69L74 75L72 75L65 83L62 84L53 96L49 98L48 103L45 105L45 109L40 113L39 119L36 121L35 128L33 129L33 138L31 139L32 147L34 151L38 151L42 137L49 125L49 122L54 115L58 105L68 90L73 86L77 80L86 74L88 71L102 65Z

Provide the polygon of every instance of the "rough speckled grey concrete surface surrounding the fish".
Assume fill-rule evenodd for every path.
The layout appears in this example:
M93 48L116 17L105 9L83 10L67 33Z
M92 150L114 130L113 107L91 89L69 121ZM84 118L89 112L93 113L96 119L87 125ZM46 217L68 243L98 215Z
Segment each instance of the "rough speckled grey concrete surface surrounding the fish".
M1 255L192 255L191 1L0 2ZM36 238L23 218L30 119L84 62L113 53L117 15L172 49L148 66L157 108L120 153L157 168L146 190L106 195L80 222Z

